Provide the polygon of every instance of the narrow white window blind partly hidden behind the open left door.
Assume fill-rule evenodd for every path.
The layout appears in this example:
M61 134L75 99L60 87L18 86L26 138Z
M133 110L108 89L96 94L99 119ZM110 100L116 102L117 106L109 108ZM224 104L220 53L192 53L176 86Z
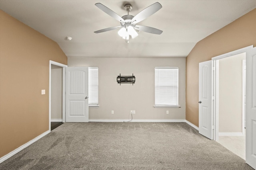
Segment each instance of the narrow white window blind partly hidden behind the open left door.
M98 67L88 68L88 104L98 105Z

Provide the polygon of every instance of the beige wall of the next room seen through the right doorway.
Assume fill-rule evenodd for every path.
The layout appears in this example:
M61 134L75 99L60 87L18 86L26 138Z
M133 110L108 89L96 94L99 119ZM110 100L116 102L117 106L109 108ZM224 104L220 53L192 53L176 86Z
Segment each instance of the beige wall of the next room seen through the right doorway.
M219 132L242 132L242 60L245 53L219 60Z

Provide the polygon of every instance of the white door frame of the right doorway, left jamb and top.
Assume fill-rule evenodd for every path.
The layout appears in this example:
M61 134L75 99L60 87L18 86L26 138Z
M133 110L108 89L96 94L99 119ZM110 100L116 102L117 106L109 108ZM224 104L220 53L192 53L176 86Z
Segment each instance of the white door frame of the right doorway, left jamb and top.
M213 96L215 96L215 100L213 101L213 140L218 141L219 140L219 59L223 59L226 57L230 57L232 55L240 54L246 52L248 49L252 49L253 45L250 45L248 47L244 47L242 49L238 49L235 51L232 51L230 53L222 54L216 57L212 57L213 65L215 68L214 71L214 81L213 81Z

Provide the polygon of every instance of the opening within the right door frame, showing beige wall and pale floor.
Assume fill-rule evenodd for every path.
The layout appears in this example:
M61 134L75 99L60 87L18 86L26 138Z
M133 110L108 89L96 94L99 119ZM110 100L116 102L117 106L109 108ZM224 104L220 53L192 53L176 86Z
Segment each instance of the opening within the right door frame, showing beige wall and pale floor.
M219 59L219 143L245 159L242 63L246 53Z

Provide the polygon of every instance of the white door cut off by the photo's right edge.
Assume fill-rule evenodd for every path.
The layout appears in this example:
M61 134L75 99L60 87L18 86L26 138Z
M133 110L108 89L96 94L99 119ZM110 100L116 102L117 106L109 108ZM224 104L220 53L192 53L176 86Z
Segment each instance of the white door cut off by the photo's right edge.
M246 51L246 163L256 169L256 47Z

